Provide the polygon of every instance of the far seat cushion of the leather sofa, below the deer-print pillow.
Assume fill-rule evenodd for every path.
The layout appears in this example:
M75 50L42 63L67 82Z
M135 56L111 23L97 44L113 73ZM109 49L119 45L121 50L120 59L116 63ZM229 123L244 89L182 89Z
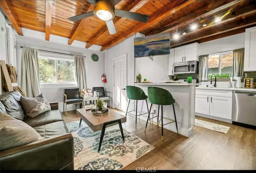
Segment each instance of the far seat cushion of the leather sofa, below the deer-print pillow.
M31 127L42 126L44 124L57 121L62 121L60 110L50 110L33 118L26 117L24 119L24 122L26 122Z

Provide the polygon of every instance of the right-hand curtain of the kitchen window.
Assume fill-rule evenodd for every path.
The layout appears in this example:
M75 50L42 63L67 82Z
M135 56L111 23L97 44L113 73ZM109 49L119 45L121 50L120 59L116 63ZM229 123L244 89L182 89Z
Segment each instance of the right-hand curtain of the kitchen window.
M244 48L233 50L233 77L241 77L244 81Z

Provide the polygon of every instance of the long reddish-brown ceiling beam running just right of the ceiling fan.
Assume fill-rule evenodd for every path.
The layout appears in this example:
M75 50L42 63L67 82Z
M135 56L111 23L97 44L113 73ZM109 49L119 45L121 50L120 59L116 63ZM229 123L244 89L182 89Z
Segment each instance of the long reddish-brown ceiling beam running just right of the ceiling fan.
M102 46L100 51L104 51L105 49L108 49L109 47L112 47L113 45L116 45L117 43L120 43L124 39L126 39L126 38L132 36L133 34L143 30L144 28L147 28L149 26L152 26L152 25L158 23L160 20L166 18L167 16L170 16L170 15L174 14L178 10L181 10L182 8L192 4L195 1L196 0L189 0L189 1L186 1L186 2L184 2L184 1L172 1L172 2L170 2L170 5L166 6L162 10L159 10L157 13L155 13L153 16L151 16L147 23L137 25L132 30L128 30L128 31L122 33L122 35L120 35L119 37L115 38L114 40L110 41L106 45Z

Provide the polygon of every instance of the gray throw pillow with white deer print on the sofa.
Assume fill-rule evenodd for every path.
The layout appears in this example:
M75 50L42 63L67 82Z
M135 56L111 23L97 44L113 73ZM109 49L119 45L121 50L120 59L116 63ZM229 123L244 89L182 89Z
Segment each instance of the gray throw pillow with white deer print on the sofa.
M44 95L41 93L34 98L20 97L20 104L26 116L32 118L51 110L50 104L47 102Z

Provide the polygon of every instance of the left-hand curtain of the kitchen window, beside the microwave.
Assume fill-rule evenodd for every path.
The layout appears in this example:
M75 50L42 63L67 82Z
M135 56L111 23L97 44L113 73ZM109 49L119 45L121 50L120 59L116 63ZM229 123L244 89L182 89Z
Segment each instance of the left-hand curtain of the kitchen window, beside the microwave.
M198 81L207 81L208 80L208 57L209 55L200 55L199 56L199 69L198 69Z

